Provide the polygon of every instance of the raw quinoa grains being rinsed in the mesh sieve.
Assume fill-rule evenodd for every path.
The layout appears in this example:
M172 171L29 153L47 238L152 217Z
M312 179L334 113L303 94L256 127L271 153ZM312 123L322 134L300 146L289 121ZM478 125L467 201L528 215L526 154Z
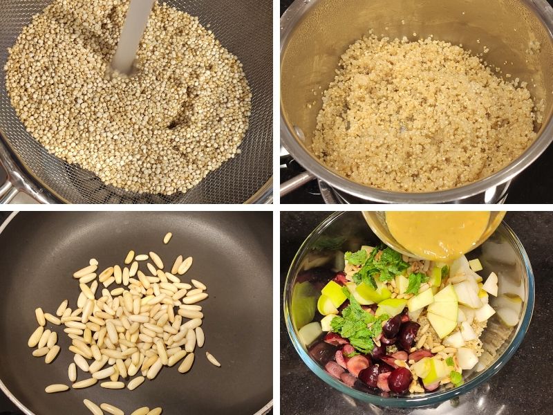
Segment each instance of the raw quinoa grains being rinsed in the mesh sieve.
M41 145L133 192L186 192L239 152L242 64L196 17L156 4L136 75L106 76L129 1L55 0L10 48L6 87Z

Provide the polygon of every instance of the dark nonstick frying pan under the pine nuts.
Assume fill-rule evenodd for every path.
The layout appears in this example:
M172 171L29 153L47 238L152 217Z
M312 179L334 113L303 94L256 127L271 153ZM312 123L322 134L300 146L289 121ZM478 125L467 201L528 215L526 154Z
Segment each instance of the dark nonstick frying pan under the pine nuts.
M82 401L111 403L131 414L161 406L164 415L263 414L272 402L272 214L270 212L20 212L0 233L0 387L26 413L90 415ZM173 232L164 245L163 237ZM123 264L129 250L160 255L165 268L178 255L194 264L181 277L199 279L209 297L205 345L191 371L164 367L138 389L99 384L46 394L53 383L70 385L73 353L63 326L47 322L62 348L46 365L27 340L37 328L35 308L55 313L64 299L76 308L75 270L96 258L99 268ZM169 265L168 265L169 264ZM145 264L140 266L140 269ZM102 269L104 269L102 268ZM100 284L98 293L103 285ZM109 289L115 288L112 284ZM97 296L98 297L98 296ZM186 321L186 320L185 320ZM205 358L209 351L221 362ZM80 369L77 380L88 378Z

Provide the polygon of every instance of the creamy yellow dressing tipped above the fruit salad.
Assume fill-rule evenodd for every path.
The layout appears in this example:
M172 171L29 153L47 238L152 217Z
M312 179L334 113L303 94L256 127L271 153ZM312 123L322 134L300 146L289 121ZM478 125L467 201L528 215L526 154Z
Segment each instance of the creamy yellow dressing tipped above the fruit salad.
M406 250L444 262L472 250L489 218L489 212L386 212L388 230Z

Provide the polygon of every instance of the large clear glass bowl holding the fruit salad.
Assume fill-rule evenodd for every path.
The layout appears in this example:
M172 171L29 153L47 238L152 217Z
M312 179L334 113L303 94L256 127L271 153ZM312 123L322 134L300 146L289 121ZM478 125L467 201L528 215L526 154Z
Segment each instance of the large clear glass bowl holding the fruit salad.
M355 251L362 245L374 246L377 242L377 236L368 228L360 212L337 212L310 234L294 257L284 286L284 317L292 344L309 369L328 385L353 398L395 407L440 403L465 394L494 376L523 341L534 309L534 275L529 259L521 241L505 223L501 223L489 239L471 251L467 258L480 259L483 267L480 275L489 275L491 271L498 275L500 293L516 293L521 297L523 302L518 324L507 329L497 315L488 320L488 327L482 334L482 349L496 350L496 354L491 358L487 356L487 361L481 357L474 369L463 371L465 383L462 386L452 388L442 385L424 394L382 396L367 387L359 387L362 386L359 383L349 387L325 371L324 365L334 356L336 348L323 342L322 337L306 347L299 340L298 330L308 322L321 319L316 306L320 289L343 267L344 251ZM491 298L490 304L494 304ZM502 336L504 340L501 340Z

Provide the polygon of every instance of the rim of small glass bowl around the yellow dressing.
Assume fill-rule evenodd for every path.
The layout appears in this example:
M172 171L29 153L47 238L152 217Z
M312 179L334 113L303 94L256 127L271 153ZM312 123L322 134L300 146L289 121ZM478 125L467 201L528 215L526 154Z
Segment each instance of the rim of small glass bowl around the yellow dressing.
M408 249L404 248L401 243L393 237L390 230L388 229L388 224L386 223L386 212L383 211L374 211L374 212L362 212L363 217L365 218L368 225L371 227L371 230L375 232L376 236L387 246L401 252L402 254L409 255L409 257L417 257L413 253L409 252ZM489 212L489 221L486 230L482 233L482 236L474 244L474 248L482 245L486 239L489 238L491 234L495 232L498 228L501 221L505 217L505 212Z

